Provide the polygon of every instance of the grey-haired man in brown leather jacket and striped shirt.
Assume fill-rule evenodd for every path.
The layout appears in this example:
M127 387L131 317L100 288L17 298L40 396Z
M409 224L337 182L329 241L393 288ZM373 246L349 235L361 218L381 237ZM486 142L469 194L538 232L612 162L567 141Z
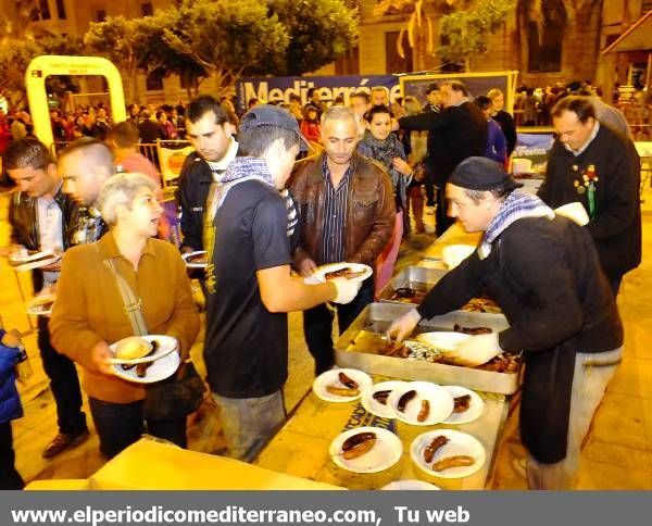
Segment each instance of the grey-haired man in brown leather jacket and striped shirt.
M299 208L301 240L293 266L304 277L318 265L374 262L389 241L396 218L391 179L380 164L355 152L358 118L344 107L322 116L325 152L299 164L290 185ZM374 300L374 279L367 278L355 299L336 305L340 334ZM335 362L334 313L323 303L303 312L308 348L318 375Z

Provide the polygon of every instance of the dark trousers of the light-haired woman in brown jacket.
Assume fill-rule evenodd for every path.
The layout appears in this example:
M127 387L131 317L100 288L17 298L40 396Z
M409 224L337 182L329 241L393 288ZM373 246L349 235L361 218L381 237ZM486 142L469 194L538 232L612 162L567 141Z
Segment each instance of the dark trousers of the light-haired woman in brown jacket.
M100 437L100 451L112 459L136 442L145 433L142 400L130 403L103 402L88 398L90 414ZM186 417L170 421L147 421L150 435L186 447Z

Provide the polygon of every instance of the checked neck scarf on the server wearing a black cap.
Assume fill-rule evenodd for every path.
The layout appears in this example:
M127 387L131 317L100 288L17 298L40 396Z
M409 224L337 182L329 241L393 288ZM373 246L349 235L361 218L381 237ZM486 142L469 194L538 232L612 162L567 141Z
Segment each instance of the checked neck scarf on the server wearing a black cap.
M510 193L489 228L485 231L480 246L478 247L478 256L486 259L491 253L491 243L507 228L512 223L524 217L548 217L552 220L554 212L550 206L543 203L537 196L527 193L523 190L514 190Z

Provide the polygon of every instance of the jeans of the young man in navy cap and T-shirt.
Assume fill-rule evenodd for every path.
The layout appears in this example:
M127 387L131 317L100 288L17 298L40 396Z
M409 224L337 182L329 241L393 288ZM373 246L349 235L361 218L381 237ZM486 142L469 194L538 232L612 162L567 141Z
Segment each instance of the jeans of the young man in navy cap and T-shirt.
M285 422L283 391L261 398L226 398L215 394L226 454L251 462Z

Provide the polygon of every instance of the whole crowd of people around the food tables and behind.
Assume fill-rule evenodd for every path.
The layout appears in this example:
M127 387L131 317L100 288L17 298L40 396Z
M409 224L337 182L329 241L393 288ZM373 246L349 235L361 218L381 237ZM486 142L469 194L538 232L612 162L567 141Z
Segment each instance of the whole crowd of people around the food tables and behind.
M153 112L131 104L124 123L99 108L88 121L82 115L89 137L80 138L67 137L67 115L53 112L53 126L70 141L57 159L37 138L14 137L2 152L16 185L9 254L64 253L33 271L35 292L57 291L51 318L38 324L59 426L43 456L88 436L83 391L106 458L143 430L186 447L186 413L156 411L148 403L154 389L118 378L109 345L171 336L181 364L173 381L185 378L200 318L181 254L205 250L198 277L208 385L226 454L251 461L286 417L287 313L303 311L315 374L329 370L335 315L342 333L374 301L393 273L410 214L423 233L429 205L437 235L459 221L482 240L388 336L403 339L422 317L488 290L510 328L465 345L487 355L525 352L521 429L529 486L572 488L581 441L622 356L615 297L640 263L641 226L639 159L618 128L620 115L570 91L550 109L557 139L538 197L505 170L516 134L504 95L492 89L472 99L460 82L430 84L423 108L412 97L390 102L386 88L354 93L350 105L328 107L316 89L304 107L296 98L287 108L250 101L240 118L229 101L211 96ZM177 249L156 239L165 238L160 176L137 145L181 129L195 151L178 179ZM302 159L315 142L318 151ZM584 226L553 210L575 201L586 209ZM343 261L366 264L373 275L315 279L319 266ZM21 411L5 366L17 360L17 343L0 336L0 401L11 401L0 412L0 487L20 488L10 421ZM544 419L542 408L550 410Z

